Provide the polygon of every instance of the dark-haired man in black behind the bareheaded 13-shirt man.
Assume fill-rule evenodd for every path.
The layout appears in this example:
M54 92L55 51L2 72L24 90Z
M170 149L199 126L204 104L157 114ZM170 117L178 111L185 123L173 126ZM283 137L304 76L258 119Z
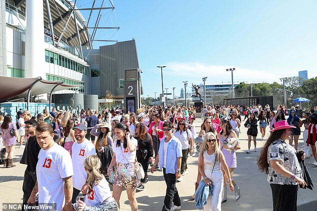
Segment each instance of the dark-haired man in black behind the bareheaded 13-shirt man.
M31 195L32 189L36 183L36 164L37 164L37 157L40 151L40 146L36 141L35 136L35 129L37 127L37 122L33 119L27 120L24 122L25 124L25 135L30 137L25 146L25 157L26 157L26 164L27 167L24 172L24 180L23 180L23 206L27 204L27 200ZM23 153L24 154L24 153ZM24 210L24 207L22 208Z

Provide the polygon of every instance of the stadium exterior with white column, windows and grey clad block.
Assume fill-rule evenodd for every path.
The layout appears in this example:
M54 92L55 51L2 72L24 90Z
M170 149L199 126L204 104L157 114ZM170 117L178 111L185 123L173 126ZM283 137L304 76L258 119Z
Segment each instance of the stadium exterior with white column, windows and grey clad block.
M99 26L98 18L89 23L80 12L114 9L112 1L110 7L98 8L94 4L77 8L71 0L0 1L0 76L41 77L76 85L54 92L53 99L62 103L70 103L65 96L75 92L82 98L80 103L103 98L105 90L123 98L124 69L139 67L135 40L93 49L95 30L107 27ZM42 94L42 102L47 101L48 93Z

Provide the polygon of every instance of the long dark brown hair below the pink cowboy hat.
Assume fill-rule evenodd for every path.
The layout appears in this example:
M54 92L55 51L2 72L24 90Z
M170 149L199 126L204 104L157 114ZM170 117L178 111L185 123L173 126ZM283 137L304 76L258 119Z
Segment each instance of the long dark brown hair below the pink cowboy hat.
M256 162L258 169L261 172L265 172L268 174L268 163L267 163L267 151L269 145L273 143L273 141L280 139L282 135L285 133L286 129L276 130L271 133L271 135L268 137L265 145L263 146L261 150L261 154Z

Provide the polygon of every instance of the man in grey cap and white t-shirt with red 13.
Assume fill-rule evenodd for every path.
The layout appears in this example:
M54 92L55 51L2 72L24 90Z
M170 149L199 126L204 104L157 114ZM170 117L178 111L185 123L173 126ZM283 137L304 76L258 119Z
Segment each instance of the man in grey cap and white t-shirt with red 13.
M85 138L85 135L87 134L87 126L85 124L77 124L74 127L74 131L75 139L77 141L74 142L71 147L71 161L74 172L72 179L72 204L76 202L76 198L80 191L83 195L87 192L87 173L84 170L83 161L89 155L96 155L94 145Z

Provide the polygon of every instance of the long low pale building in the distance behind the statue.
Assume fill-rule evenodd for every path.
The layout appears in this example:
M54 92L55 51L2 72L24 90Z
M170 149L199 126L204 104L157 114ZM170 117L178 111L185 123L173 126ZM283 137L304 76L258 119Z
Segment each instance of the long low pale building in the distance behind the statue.
M236 87L239 83L234 83L233 86ZM201 94L201 99L204 98L203 96L203 84L197 84L199 88L199 93ZM206 84L206 102L210 103L212 102L212 96L216 95L228 95L231 93L231 83L213 83L213 84ZM193 87L191 87L191 94L195 94L195 90ZM190 97L190 96L189 96ZM200 102L199 96L198 97L192 97L193 102Z

